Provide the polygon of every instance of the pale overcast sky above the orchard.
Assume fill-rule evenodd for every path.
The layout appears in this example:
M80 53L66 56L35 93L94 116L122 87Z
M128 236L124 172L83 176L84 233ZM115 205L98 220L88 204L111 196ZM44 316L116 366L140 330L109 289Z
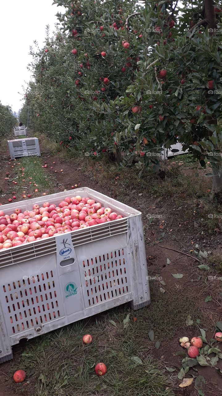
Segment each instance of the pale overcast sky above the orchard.
M55 14L63 12L52 6L53 0L0 1L0 101L18 112L23 106L22 86L30 80L27 65L32 61L29 47L34 40L40 48L45 39L45 27L50 25L52 34L57 22Z

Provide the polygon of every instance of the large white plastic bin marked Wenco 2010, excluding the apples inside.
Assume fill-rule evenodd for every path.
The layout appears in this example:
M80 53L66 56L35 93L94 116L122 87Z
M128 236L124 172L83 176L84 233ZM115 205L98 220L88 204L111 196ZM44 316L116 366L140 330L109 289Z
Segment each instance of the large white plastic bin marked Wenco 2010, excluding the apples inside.
M122 219L0 250L0 362L11 346L131 302L149 305L141 212L84 187L1 206L5 214L34 204L87 196Z

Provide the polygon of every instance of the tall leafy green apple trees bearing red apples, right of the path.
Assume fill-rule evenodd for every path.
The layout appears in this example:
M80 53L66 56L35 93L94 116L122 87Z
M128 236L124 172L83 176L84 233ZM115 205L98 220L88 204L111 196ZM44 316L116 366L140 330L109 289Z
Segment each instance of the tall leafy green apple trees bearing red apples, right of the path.
M53 4L66 13L44 48L30 51L25 107L36 129L77 155L134 160L140 173L179 141L202 167L210 162L213 190L221 188L221 4Z

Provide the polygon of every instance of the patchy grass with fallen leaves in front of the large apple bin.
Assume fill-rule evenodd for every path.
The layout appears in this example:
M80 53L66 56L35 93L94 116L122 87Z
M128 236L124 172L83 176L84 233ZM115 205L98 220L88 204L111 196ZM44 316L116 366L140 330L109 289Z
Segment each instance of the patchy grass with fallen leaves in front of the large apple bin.
M28 373L30 386L35 385L32 395L173 395L175 379L168 377L164 364L153 360L150 352L156 341L173 337L188 313L196 322L200 312L185 295L180 296L178 309L179 293L172 299L154 286L151 293L150 307L133 312L125 305L29 341L19 366ZM91 345L82 344L83 334L92 334ZM98 362L108 367L105 377L94 374Z

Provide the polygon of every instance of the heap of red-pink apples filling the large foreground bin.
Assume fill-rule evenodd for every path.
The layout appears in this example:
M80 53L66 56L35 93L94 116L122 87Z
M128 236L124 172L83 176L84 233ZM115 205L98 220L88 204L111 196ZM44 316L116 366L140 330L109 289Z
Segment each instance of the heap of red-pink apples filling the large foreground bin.
M81 196L66 197L58 206L45 202L41 207L35 204L32 210L13 210L11 215L0 211L0 250L123 218L100 202Z

